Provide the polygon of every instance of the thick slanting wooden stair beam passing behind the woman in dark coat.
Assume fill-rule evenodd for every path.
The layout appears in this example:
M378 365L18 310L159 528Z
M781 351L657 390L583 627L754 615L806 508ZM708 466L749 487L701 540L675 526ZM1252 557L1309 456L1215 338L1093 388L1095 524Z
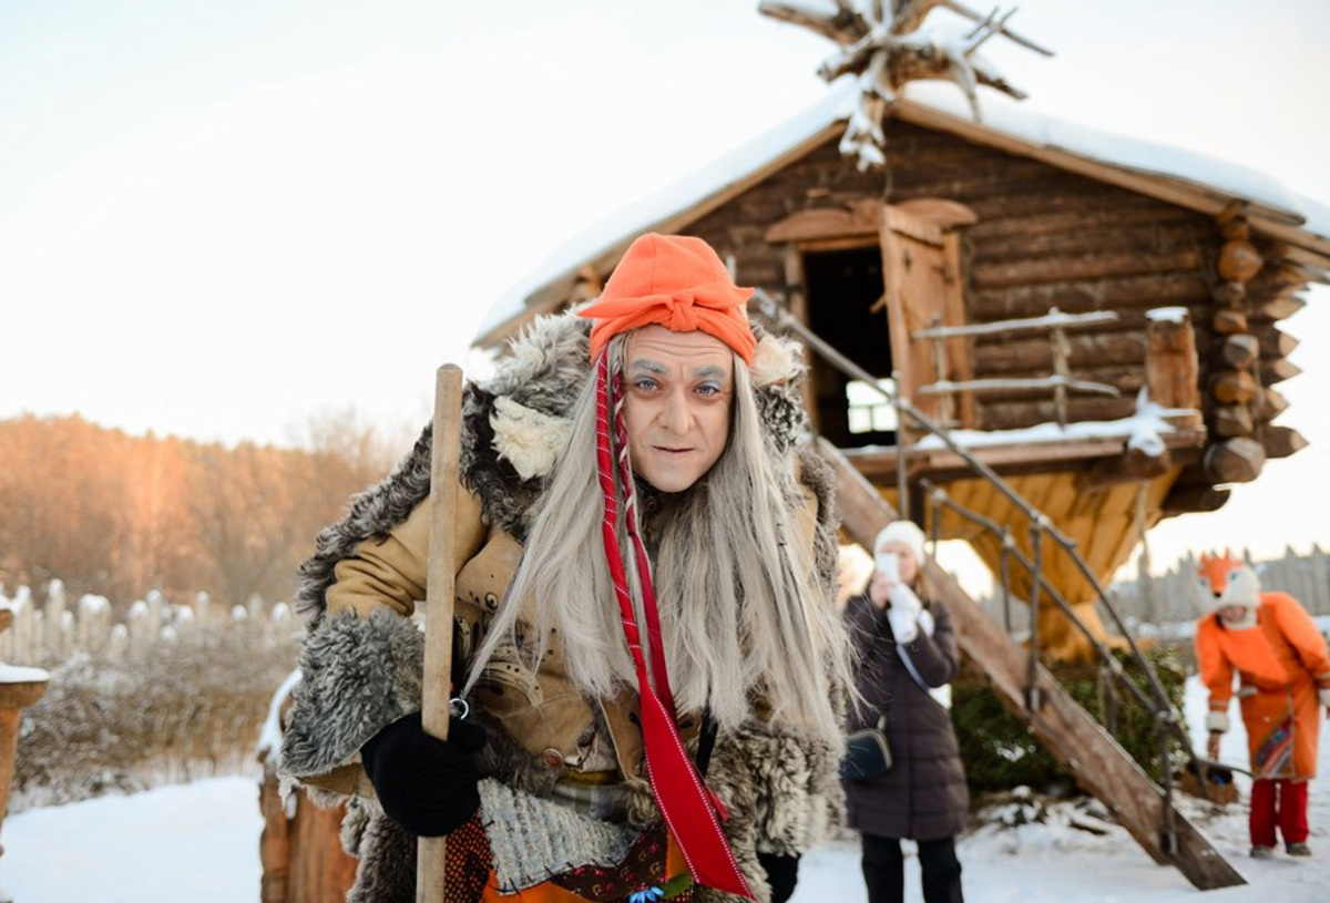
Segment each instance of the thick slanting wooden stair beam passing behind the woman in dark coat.
M838 450L819 440L818 452L837 476L843 529L861 544L871 545L878 531L895 520L895 512ZM935 600L947 606L956 625L960 650L984 670L1011 711L1029 723L1040 742L1109 807L1150 858L1177 866L1201 890L1246 883L1176 807L1170 813L1176 850L1166 851L1160 835L1165 805L1158 786L1043 666L1037 669L1035 686L1044 704L1027 710L1024 650L942 568L930 561L924 569Z

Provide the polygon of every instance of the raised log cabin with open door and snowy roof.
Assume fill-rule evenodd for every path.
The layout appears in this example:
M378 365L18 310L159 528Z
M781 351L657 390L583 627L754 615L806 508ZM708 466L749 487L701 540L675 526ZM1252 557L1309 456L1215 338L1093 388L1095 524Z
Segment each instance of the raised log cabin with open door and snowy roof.
M1326 281L1330 211L1240 165L1019 108L979 124L938 84L911 85L883 124L884 169L863 172L838 150L851 106L833 90L568 242L499 299L476 344L595 297L644 231L700 235L739 285L1000 473L1101 584L1161 519L1217 509L1228 485L1306 444L1271 423L1287 407L1278 383L1298 372L1279 322ZM1028 559L1019 507L898 424L866 380L819 355L809 368L814 430L887 501L923 520L920 487L940 487L1012 525ZM926 525L998 571L1001 537L950 511ZM1044 568L1103 633L1084 572L1053 555ZM1049 652L1083 650L1045 608Z

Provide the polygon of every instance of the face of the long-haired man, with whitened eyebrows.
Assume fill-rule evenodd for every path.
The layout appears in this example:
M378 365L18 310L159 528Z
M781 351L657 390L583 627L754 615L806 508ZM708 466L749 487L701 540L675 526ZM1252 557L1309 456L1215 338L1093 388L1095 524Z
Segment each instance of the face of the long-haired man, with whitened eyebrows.
M633 471L661 492L688 489L729 442L734 354L706 332L644 326L628 335L624 388Z

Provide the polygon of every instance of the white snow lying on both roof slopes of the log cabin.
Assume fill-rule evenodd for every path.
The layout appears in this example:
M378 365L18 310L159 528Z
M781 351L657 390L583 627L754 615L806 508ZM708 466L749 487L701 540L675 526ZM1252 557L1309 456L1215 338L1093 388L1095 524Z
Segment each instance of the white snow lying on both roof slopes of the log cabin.
M476 334L477 339L525 313L525 302L531 295L567 278L583 263L725 192L817 138L830 126L847 120L854 109L857 92L858 85L853 78L839 80L822 101L798 116L557 246L540 266L495 301ZM906 121L919 118L924 112L940 113L954 117L958 125L967 129L1007 136L1035 148L1063 150L1117 169L1164 177L1254 202L1289 225L1321 238L1330 237L1330 206L1298 195L1248 166L1065 122L1020 104L1000 102L1004 98L986 104L984 121L975 124L970 118L966 98L954 85L944 82L912 82L906 86L903 97L898 116Z

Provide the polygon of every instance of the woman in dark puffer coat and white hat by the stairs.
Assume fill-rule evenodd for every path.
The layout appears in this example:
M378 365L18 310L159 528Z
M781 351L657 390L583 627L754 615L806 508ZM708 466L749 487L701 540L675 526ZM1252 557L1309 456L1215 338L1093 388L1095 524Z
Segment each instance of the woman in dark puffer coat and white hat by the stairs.
M970 794L951 711L930 693L955 678L959 658L946 606L928 605L916 592L923 541L910 521L888 524L874 543L872 580L846 605L863 700L850 729L882 719L894 759L886 774L845 785L849 825L863 838L870 903L903 900L902 839L918 842L926 903L962 900L956 835Z

